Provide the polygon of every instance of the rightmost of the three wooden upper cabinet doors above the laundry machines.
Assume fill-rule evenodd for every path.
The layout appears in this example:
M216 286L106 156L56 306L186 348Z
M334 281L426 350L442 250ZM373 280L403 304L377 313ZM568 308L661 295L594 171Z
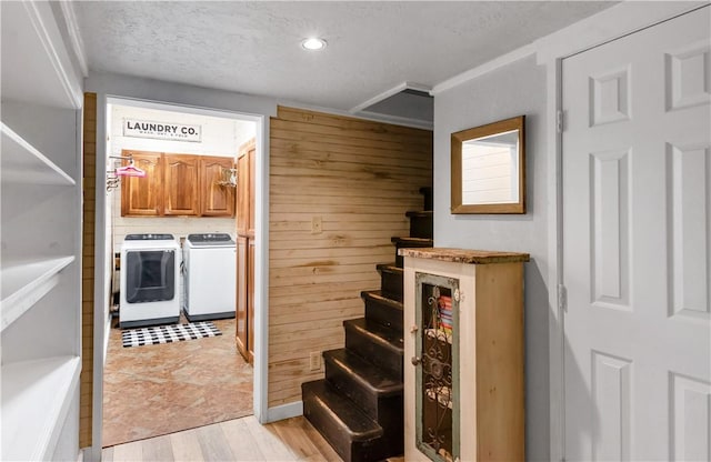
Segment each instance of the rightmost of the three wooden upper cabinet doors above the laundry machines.
M234 217L234 188L220 184L232 159L200 158L200 212L203 217Z

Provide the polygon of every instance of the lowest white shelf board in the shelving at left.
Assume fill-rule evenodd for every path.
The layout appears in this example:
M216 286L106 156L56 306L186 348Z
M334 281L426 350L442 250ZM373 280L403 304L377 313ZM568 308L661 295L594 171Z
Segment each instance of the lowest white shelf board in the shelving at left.
M2 364L3 461L52 456L79 384L79 356Z

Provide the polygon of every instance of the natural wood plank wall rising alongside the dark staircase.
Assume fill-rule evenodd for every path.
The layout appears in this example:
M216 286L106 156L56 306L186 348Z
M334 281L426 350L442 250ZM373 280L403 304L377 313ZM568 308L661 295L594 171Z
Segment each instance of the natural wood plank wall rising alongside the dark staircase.
M270 123L269 406L323 376L309 355L342 348L377 263L394 261L408 210L432 185L432 132L280 107ZM313 232L320 220L322 232Z

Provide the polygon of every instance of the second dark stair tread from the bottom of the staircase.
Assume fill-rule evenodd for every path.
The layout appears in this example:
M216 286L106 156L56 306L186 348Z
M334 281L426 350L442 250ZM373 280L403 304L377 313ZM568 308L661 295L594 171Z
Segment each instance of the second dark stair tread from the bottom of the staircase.
M402 393L402 381L398 376L347 349L324 351L323 358L326 361L332 361L338 368L351 372L350 375L354 380L379 395L388 396Z

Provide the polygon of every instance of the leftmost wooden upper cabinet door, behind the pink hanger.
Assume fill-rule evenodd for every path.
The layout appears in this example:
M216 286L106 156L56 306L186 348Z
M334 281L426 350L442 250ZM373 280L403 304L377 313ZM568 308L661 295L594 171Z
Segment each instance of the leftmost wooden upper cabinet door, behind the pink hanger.
M122 151L146 177L121 180L121 217L159 217L163 213L163 162L160 152ZM127 162L128 163L128 162Z

